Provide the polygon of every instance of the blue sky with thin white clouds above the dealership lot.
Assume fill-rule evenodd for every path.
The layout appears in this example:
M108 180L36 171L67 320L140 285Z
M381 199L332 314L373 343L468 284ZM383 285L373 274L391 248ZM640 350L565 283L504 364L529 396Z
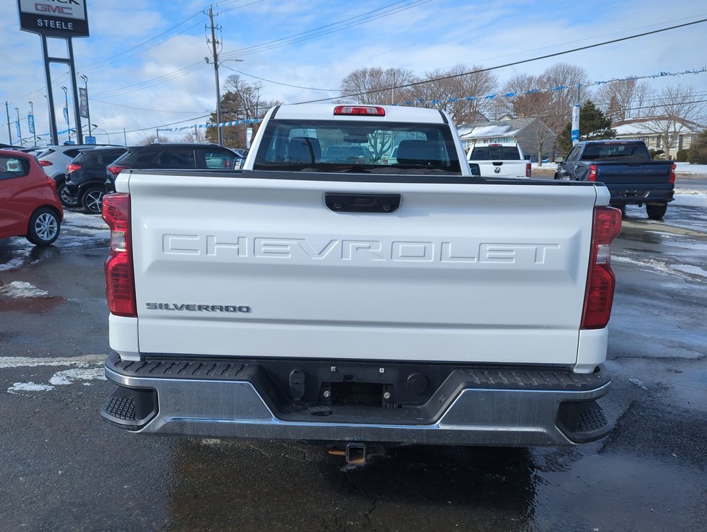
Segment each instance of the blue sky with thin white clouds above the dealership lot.
M17 4L4 0L0 102L18 107L28 136L29 101L37 133L48 131L47 94L40 37L19 30ZM128 143L173 122L200 124L214 110L214 69L205 26L204 0L87 0L90 37L74 40L77 74L88 76L91 122L99 142ZM222 59L221 81L242 72L261 81L266 100L294 103L336 96L347 73L361 67L400 67L424 74L456 64L485 67L592 45L670 25L707 18L703 0L665 4L657 0L222 0L214 2ZM494 71L503 83L518 73L539 73L565 61L582 66L592 81L684 71L707 66L707 23L639 37L553 59ZM64 55L54 42L52 55ZM52 66L59 129L64 65ZM250 77L256 76L256 77ZM258 80L257 78L263 78ZM268 81L263 81L268 80ZM81 82L80 82L81 83ZM707 93L707 73L650 81L694 85ZM83 86L83 83L81 83ZM468 95L459 95L468 96ZM69 101L71 107L71 101ZM4 106L3 106L4 107ZM0 142L8 141L4 109ZM73 110L71 126L75 126ZM13 139L16 129L12 125ZM175 124L175 126L181 124ZM134 131L144 130L144 131ZM178 140L182 134L168 134Z

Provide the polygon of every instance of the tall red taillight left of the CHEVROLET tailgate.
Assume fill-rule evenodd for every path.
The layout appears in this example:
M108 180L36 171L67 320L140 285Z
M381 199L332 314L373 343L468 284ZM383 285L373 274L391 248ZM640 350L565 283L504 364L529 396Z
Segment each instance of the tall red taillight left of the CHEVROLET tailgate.
M103 220L110 228L110 255L104 265L108 308L117 316L137 317L129 194L103 196Z

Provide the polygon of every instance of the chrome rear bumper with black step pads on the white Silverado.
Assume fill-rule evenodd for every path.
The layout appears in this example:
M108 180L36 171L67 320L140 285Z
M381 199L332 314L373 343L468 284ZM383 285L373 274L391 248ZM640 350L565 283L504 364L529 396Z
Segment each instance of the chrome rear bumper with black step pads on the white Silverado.
M177 365L171 375L162 370L168 363ZM105 374L118 388L101 414L115 425L144 434L325 442L525 447L572 445L599 439L611 430L595 403L607 393L605 372L556 372L563 377L553 379L568 380L544 385L538 376L549 380L554 372L498 370L504 379L501 388L486 387L493 379L479 382L475 370L466 370L469 383L457 386L454 396L433 396L443 406L434 419L421 420L406 415L404 408L369 408L366 412L373 415L358 410L342 417L312 407L291 415L279 411L262 383L250 382L238 366L109 358ZM484 373L489 374L479 370L479 375ZM508 381L510 376L517 382ZM379 417L378 412L386 415Z

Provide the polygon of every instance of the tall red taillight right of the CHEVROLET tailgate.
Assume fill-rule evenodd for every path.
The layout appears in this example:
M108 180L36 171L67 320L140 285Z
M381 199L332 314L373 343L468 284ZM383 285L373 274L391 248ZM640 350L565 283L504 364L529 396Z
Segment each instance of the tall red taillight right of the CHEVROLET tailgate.
M612 240L621 232L621 211L612 207L594 209L592 249L581 329L603 329L609 323L616 278L612 270Z

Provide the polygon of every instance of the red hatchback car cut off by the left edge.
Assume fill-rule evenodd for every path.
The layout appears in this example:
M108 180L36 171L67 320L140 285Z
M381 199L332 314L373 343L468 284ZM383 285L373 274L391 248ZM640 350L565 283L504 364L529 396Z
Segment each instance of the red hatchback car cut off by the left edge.
M57 240L63 218L54 179L34 156L0 150L0 238L27 237L48 246Z

